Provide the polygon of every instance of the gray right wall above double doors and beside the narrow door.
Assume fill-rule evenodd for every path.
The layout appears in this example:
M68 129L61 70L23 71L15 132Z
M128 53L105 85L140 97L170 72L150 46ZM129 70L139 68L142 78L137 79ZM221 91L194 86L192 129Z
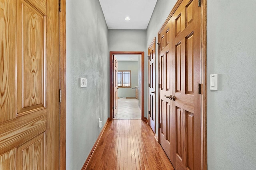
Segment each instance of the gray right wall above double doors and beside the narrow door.
M150 22L147 28L147 38L146 38L146 55L148 55L148 47L156 37L156 43L158 43L158 31L164 24L164 21L169 16L174 4L177 0L158 0L154 12L151 16ZM148 61L148 60L147 60ZM158 48L156 44L156 84L158 84ZM158 89L156 92L156 125L158 124ZM147 103L148 104L148 103ZM158 136L158 128L156 128L156 136Z

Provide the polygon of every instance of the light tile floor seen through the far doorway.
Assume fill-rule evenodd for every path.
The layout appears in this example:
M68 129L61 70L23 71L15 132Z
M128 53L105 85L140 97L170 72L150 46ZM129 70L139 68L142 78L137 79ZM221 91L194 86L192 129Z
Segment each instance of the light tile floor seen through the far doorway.
M137 99L118 99L117 114L114 119L141 119Z

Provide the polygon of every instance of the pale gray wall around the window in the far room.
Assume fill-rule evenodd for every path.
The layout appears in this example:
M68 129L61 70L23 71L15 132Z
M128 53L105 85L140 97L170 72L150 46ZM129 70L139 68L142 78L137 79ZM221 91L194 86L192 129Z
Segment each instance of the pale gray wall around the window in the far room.
M118 97L135 98L135 86L139 84L138 61L118 61L118 70L131 70L131 88L119 88Z

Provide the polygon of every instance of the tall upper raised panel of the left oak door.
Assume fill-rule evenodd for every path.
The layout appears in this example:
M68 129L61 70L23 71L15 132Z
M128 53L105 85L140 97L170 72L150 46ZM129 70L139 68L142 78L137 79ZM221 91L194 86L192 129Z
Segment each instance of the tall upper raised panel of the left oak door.
M46 106L46 18L24 1L18 2L17 12L17 110L21 115Z

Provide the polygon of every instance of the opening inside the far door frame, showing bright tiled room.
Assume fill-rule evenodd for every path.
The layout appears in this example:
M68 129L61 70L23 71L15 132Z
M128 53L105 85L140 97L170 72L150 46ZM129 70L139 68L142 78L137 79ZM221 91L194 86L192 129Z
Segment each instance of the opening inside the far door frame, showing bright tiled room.
M114 119L141 119L139 70L141 55L114 55L117 63L117 112Z

